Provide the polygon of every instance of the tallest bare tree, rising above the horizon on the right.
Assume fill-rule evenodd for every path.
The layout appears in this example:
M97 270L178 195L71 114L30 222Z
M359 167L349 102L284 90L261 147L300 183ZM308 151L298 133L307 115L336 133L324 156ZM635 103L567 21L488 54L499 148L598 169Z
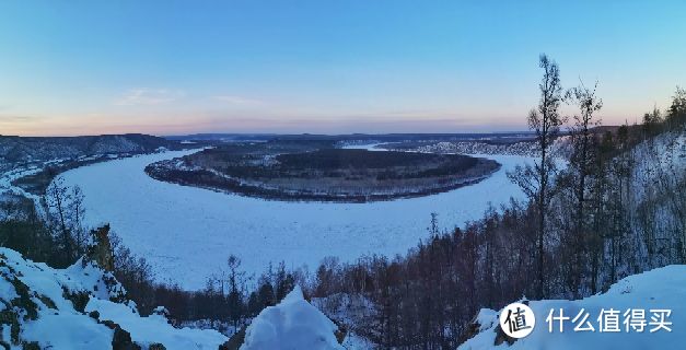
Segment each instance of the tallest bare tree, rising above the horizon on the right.
M550 202L551 178L556 173L556 166L550 156L550 145L559 133L563 118L559 114L562 102L562 86L560 85L560 71L557 63L550 60L545 54L539 57L539 67L544 74L538 89L540 101L538 107L528 114L528 128L535 131L535 141L538 147L539 159L534 165L518 166L513 173L508 174L510 179L518 184L535 201L538 215L537 234L537 285L538 298L545 298L545 230L546 212Z

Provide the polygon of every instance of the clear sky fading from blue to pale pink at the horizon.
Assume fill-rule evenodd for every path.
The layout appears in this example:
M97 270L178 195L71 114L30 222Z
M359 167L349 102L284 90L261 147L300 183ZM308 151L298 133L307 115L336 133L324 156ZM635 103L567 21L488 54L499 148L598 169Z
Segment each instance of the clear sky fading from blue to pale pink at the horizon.
M0 135L525 129L540 52L604 124L686 85L686 1L1 1Z

